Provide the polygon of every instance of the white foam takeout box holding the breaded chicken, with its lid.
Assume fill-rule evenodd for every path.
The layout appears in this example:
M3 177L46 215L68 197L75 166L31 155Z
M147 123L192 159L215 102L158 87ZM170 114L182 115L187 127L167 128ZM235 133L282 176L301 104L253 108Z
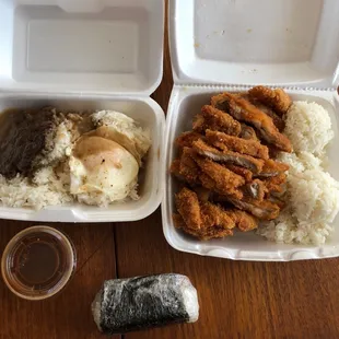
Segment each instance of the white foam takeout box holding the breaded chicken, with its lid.
M329 148L330 174L339 179L339 1L172 0L170 43L174 87L167 113L165 165L176 156L175 138L191 129L192 117L212 94L255 84L281 86L293 100L323 105L336 133ZM339 256L339 218L324 246L276 244L250 233L200 242L174 227L178 186L166 172L163 230L176 249L229 259L297 260Z

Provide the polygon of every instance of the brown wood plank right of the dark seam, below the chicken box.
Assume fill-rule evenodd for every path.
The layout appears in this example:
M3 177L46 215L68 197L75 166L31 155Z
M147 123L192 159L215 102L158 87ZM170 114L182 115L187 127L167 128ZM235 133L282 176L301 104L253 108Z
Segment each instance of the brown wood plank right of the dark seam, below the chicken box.
M196 324L126 339L339 338L339 259L246 262L180 253L163 236L160 210L119 225L116 237L119 277L183 273L200 303Z

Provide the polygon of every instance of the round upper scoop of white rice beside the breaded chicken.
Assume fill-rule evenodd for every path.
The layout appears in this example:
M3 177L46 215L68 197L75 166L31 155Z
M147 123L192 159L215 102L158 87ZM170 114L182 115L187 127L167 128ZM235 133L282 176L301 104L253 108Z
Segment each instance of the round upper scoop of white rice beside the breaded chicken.
M285 118L284 133L294 152L309 152L320 156L334 138L328 112L316 103L294 102Z

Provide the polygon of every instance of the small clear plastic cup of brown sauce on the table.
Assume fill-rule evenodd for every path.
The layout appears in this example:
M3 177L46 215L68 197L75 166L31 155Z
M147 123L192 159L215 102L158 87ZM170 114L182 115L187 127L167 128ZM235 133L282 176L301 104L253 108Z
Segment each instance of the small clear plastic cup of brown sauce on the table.
M8 288L26 300L44 300L66 287L77 266L74 246L62 232L32 226L7 245L1 273Z

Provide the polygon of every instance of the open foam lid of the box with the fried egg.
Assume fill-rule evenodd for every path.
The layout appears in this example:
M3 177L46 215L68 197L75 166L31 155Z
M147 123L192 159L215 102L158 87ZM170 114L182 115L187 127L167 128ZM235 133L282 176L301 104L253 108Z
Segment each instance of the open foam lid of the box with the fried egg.
M0 1L0 91L151 94L161 0Z

